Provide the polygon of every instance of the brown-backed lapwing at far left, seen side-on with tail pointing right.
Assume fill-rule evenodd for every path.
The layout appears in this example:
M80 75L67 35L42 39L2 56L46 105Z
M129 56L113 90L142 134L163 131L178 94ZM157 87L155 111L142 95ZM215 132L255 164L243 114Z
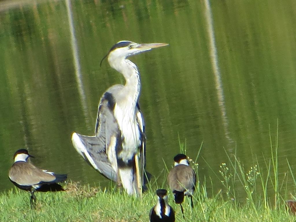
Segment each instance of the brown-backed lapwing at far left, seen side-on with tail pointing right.
M15 162L10 168L8 176L15 186L31 193L30 204L33 207L33 204L36 202L35 191L65 191L57 183L65 181L67 175L41 170L27 162L29 157L33 156L28 153L28 150L17 150L13 157Z

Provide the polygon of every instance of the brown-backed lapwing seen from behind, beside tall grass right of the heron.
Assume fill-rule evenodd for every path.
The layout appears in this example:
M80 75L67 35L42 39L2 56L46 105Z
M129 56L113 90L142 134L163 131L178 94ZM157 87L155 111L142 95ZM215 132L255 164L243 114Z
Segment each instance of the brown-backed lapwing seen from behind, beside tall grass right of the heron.
M176 204L180 204L184 217L182 203L184 196L191 198L191 207L193 208L192 195L195 190L196 175L194 170L189 166L186 155L178 154L174 157L175 166L168 174L168 184L175 196Z

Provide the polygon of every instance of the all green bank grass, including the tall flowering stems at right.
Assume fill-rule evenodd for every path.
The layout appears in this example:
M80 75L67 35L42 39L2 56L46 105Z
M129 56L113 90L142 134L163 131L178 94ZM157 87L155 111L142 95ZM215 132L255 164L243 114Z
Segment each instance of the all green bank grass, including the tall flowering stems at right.
M0 194L0 221L149 221L149 211L155 205L155 190L167 189L169 204L176 211L176 221L295 221L296 218L287 210L288 174L291 175L294 187L296 181L289 162L289 172L279 181L278 171L278 134L275 144L270 137L271 156L265 158L265 165L255 164L247 170L237 158L236 152L231 156L226 152L228 165L220 164L219 172L214 172L221 181L219 191L207 190L213 187L211 178L204 178L203 184L198 177L197 154L195 160L189 159L197 173L196 191L194 193L194 209L190 199L183 204L185 219L181 215L180 206L173 202L166 180L157 184L158 178L166 177L169 167L152 179L149 189L143 198L128 196L114 184L106 189L80 186L78 183L65 184L65 192L36 192L36 209L30 208L29 193L20 189L11 189ZM186 153L186 143L180 143L180 150ZM257 163L257 164L256 164ZM207 166L211 169L210 165ZM265 173L265 175L263 174Z

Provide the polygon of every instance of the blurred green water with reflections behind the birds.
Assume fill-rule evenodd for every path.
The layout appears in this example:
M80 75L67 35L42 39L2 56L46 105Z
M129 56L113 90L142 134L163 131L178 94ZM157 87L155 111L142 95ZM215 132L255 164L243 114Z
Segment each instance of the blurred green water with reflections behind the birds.
M203 142L199 177L218 190L215 174L229 164L224 149L246 171L257 161L264 168L277 120L280 178L287 160L294 170L296 1L210 1L212 14L206 2L0 1L0 189L13 186L7 175L20 148L74 181L109 183L70 138L73 131L93 135L100 96L124 84L107 60L99 66L120 40L170 44L130 58L141 73L153 175L162 180L163 161L170 167L179 141L193 159ZM291 176L287 188L294 192Z

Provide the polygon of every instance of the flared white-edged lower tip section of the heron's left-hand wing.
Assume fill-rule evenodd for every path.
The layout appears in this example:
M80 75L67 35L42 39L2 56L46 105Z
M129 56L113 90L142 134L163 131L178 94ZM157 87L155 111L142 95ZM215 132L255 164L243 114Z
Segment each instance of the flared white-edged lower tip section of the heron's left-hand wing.
M117 181L117 173L113 170L103 148L104 145L97 136L83 136L73 133L72 143L87 163L108 179L114 182Z

